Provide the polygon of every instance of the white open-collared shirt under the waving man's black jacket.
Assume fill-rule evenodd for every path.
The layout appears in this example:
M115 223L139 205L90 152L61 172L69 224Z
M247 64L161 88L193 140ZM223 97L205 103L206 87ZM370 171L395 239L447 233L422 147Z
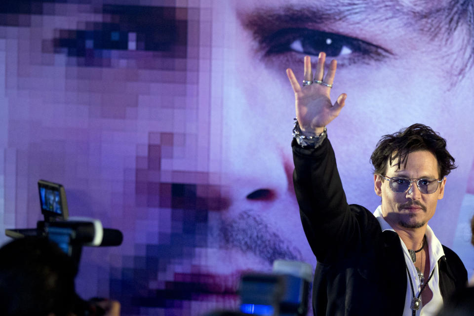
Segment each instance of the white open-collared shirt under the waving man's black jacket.
M393 231L395 230L390 226L389 223L383 218L382 216L382 205L379 205L374 212L375 217L380 223L382 227L382 231ZM434 270L433 276L428 282L427 287L430 287L431 291L433 292L433 298L431 299L428 304L424 305L422 302L421 308L416 312L417 316L430 316L436 315L439 309L443 305L443 298L441 296L441 291L439 290L439 271L438 271L438 260L444 256L443 247L441 246L441 242L439 242L438 238L436 238L435 233L427 226L426 228L426 241L428 243L428 251L430 253L430 275ZM400 237L398 237L400 238ZM412 316L411 310L411 302L413 300L413 293L411 290L410 285L410 277L413 283L413 288L415 290L415 297L418 297L418 294L421 291L422 285L420 284L420 279L418 278L418 273L415 268L415 264L411 261L410 253L405 246L405 243L400 238L400 244L403 249L403 253L405 255L405 263L410 271L410 275L406 274L406 295L405 295L405 307L403 308L403 316ZM425 276L425 281L428 280L430 275ZM427 289L425 288L425 291ZM420 295L421 299L421 295Z

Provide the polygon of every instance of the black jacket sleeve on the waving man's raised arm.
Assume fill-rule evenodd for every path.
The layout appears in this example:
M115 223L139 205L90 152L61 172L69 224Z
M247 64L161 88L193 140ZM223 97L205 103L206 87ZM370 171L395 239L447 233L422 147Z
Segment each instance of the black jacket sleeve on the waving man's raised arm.
M312 149L293 140L292 147L301 221L317 261L332 263L368 249L380 225L364 207L348 205L329 140Z

